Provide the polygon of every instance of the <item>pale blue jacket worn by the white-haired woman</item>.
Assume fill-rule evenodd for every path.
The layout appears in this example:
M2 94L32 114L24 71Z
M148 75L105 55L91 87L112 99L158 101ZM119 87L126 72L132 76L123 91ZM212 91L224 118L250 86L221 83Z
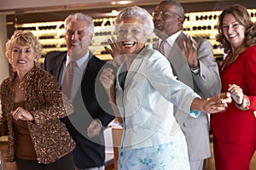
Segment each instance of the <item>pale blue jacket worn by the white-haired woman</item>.
M123 147L126 150L166 144L184 138L173 116L173 104L190 113L192 101L199 97L177 81L165 56L148 44L137 54L125 78L124 90L120 73L116 84L116 101L124 119ZM182 107L182 108L181 108Z

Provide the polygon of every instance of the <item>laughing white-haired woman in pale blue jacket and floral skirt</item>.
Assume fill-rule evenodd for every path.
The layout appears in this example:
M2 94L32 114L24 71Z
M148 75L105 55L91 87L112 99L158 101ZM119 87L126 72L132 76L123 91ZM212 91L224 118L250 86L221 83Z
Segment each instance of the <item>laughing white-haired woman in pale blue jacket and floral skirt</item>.
M114 59L123 56L124 62L117 77L107 68L100 80L124 127L119 169L189 169L187 144L173 116L173 105L196 117L200 111L224 111L230 94L200 99L177 81L166 57L146 44L154 24L145 9L123 9L115 31L117 42L108 51Z

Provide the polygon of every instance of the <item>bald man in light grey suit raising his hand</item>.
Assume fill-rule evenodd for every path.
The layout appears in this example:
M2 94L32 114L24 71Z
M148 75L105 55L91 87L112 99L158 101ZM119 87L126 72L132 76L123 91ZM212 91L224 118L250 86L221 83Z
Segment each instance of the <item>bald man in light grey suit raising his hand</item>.
M183 33L183 6L172 0L162 1L154 10L153 20L154 33L160 37L156 48L170 61L177 78L201 98L218 94L221 82L212 45L203 38L194 39ZM174 116L187 141L190 169L202 170L204 159L211 156L207 113L201 112L194 118L175 108Z

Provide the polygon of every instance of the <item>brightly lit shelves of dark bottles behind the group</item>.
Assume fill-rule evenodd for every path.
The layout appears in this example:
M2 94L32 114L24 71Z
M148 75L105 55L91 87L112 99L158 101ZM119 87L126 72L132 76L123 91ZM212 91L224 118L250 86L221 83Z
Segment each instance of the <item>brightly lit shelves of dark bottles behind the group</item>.
M192 37L204 37L212 44L213 54L218 62L222 61L224 50L215 36L218 31L216 29L218 15L221 11L193 12L185 14L183 31ZM248 9L253 21L256 21L256 9ZM114 18L94 19L95 31L90 50L101 59L111 59L109 54L104 49L108 45L108 38L115 35L114 33ZM31 30L43 45L43 55L49 51L67 50L64 40L64 25L63 21L54 22L38 22L28 23L17 26L17 29ZM148 42L157 42L158 37L154 34L148 38ZM218 58L218 59L217 59ZM40 59L44 62L44 59Z

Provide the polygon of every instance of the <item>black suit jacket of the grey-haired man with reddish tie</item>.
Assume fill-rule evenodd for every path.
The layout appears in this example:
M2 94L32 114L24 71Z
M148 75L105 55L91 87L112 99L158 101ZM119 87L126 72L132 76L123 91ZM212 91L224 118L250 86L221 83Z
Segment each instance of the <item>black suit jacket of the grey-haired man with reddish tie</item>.
M67 51L50 52L46 54L44 59L44 69L49 71L59 84L66 59ZM98 80L98 76L105 65L105 61L96 58L95 55L90 53L90 60L84 72L79 92L73 101L74 112L64 120L77 144L76 149L73 150L73 156L79 169L104 165L105 146L103 133L90 139L86 134L86 128L95 118L101 120L103 127L107 127L108 123L113 120L113 116L106 113L106 110L103 111L102 105L99 104L102 101L108 103L107 94ZM98 102L98 99L101 99L101 102ZM111 111L109 108L107 110Z

